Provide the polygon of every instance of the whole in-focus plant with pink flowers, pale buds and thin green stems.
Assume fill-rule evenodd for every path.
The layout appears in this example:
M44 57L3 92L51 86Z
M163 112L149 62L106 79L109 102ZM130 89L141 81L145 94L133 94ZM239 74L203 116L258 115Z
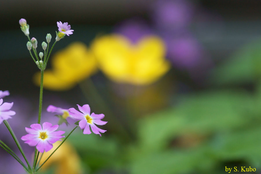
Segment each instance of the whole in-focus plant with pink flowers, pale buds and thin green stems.
M96 115L94 113L90 114L89 105L83 105L82 107L78 105L78 108L82 113L79 113L74 108L62 109L62 108L58 108L56 106L50 105L47 108L47 111L52 112L52 113L54 113L54 112L57 113L58 115L56 115L56 116L59 117L60 120L59 120L58 124L53 125L52 123L45 122L41 125L44 70L46 68L50 54L51 54L56 42L59 41L60 39L63 39L65 37L65 35L69 36L69 35L73 34L73 30L70 30L71 26L68 25L67 22L66 23L62 23L61 21L57 22L59 32L56 31L56 39L54 41L54 44L52 45L52 48L48 52L49 43L51 42L51 39L52 39L52 36L49 33L46 35L47 43L45 41L42 42L42 48L44 51L39 52L39 57L38 57L38 54L36 51L37 40L34 37L32 37L30 39L29 25L27 24L25 19L20 19L19 24L21 25L21 30L24 32L24 34L27 36L27 38L29 40L27 42L26 46L30 52L30 56L32 57L34 63L37 65L37 67L41 70L38 122L36 124L32 124L30 126L31 128L25 127L25 131L28 134L21 137L21 139L23 141L25 141L25 143L28 144L29 146L35 146L34 161L32 162L32 164L30 164L29 160L25 156L25 153L23 152L21 145L19 144L19 141L18 141L14 131L12 130L11 126L9 125L9 123L7 121L8 119L12 119L11 116L14 116L16 113L15 113L15 111L11 110L11 108L13 106L13 102L12 103L3 102L3 99L2 99L3 97L10 95L9 91L1 91L1 90L0 90L0 125L1 125L1 123L5 124L8 131L10 132L12 138L14 139L15 144L17 145L19 151L21 152L26 164L24 164L23 161L21 159L19 159L18 155L16 155L14 153L14 151L12 151L12 149L10 147L8 147L8 145L6 145L1 140L0 140L0 147L2 147L10 155L12 155L12 157L14 157L14 159L17 160L17 162L19 162L19 164L21 164L23 166L23 168L25 169L25 171L27 173L35 174L41 169L41 167L45 164L45 162L55 153L55 151L63 144L63 142L69 137L69 135L71 135L71 133L77 127L84 129L83 130L84 134L90 134L91 131L89 129L89 126L91 126L93 133L101 135L100 133L104 133L105 130L98 128L95 124L104 125L107 122L104 122L101 120L104 117L103 114L99 114L99 115ZM33 54L31 52L31 50L33 50L33 52L34 52ZM72 129L72 131L65 137L63 135L65 133L65 131L56 131L56 130L59 128L59 124L65 123L65 124L69 125L66 120L67 117L74 118L74 119L76 119L76 121L80 120L80 122L76 122L77 126L74 127ZM65 139L62 140L61 138L65 138ZM40 163L40 160L38 160L39 153L50 151L53 148L52 144L57 141L62 141L62 143L52 152L52 154L49 157L47 157L47 159L42 164L39 164Z

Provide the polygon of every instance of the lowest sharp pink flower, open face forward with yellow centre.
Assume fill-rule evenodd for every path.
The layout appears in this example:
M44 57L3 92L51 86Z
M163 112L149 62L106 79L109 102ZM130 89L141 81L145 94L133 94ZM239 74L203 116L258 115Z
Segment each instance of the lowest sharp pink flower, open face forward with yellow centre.
M21 139L29 146L36 146L36 149L41 153L48 152L53 148L52 144L61 141L60 138L65 137L61 136L65 131L56 131L59 126L52 126L48 122L43 123L43 128L41 124L32 124L30 127L25 128L25 131L29 134L21 137Z

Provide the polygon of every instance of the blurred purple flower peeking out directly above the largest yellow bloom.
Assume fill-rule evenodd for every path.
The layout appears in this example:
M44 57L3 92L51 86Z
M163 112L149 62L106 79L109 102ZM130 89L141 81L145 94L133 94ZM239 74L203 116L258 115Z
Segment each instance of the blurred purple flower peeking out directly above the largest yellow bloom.
M115 32L124 35L133 43L137 43L142 37L152 34L151 28L141 19L124 21L115 28Z

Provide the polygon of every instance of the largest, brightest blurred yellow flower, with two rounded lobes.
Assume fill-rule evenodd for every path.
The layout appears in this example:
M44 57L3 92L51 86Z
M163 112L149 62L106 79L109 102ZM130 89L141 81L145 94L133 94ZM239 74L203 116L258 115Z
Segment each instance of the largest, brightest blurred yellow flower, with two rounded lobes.
M157 36L144 37L133 45L124 36L106 35L95 39L91 49L103 73L116 82L150 84L170 69L164 43Z

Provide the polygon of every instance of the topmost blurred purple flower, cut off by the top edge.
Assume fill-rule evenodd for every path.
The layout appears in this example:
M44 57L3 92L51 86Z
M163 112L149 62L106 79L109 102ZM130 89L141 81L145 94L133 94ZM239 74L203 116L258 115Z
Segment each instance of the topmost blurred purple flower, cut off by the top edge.
M152 11L157 28L173 31L188 26L194 7L185 0L163 0L156 1L152 5Z

